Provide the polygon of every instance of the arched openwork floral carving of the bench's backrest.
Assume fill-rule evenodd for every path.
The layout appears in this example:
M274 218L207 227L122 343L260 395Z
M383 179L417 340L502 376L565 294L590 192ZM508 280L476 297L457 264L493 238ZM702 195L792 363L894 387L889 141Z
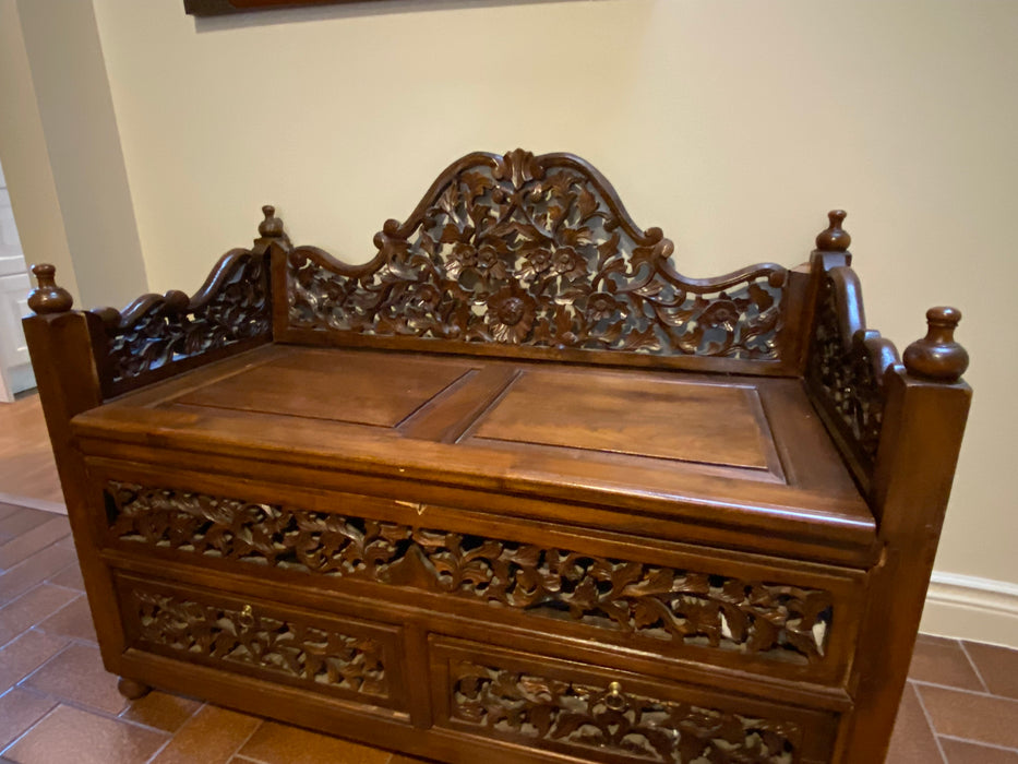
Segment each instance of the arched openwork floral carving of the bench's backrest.
M780 357L785 268L696 280L659 228L636 228L577 157L472 154L450 167L379 254L289 256L290 325L367 335L656 355Z

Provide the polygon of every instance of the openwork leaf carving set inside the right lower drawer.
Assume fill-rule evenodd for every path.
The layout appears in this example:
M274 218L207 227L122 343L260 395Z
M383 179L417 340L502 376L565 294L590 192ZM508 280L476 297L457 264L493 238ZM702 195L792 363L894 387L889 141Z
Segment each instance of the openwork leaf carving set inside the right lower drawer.
M788 721L750 718L579 682L454 661L451 716L489 735L583 749L587 761L791 764Z

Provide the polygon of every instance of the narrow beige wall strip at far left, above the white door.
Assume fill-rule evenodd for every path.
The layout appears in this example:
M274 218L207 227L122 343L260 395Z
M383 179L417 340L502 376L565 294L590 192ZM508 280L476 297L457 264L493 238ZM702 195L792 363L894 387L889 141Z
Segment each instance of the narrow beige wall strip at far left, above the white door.
M29 264L52 263L59 283L72 295L81 294L15 0L0 0L0 165L25 259Z

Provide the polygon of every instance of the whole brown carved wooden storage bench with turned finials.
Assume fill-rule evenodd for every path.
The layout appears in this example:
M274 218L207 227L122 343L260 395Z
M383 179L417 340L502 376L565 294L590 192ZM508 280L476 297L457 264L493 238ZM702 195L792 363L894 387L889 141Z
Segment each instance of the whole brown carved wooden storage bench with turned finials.
M676 273L568 154L378 255L25 319L107 668L443 762L883 760L971 391L810 262Z

